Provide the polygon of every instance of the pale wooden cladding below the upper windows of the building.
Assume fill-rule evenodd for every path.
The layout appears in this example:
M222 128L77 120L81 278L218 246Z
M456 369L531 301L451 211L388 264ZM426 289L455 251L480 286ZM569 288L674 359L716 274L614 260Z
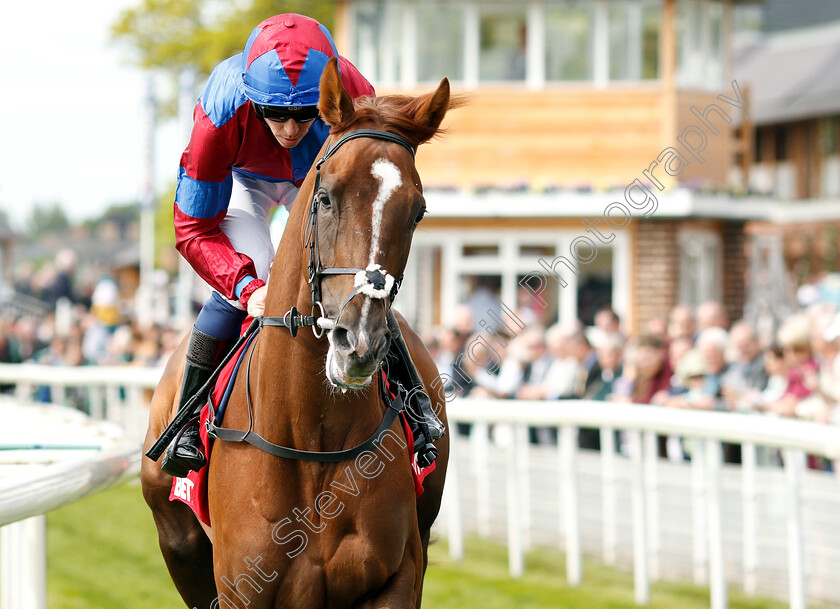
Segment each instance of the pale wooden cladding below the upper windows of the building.
M679 92L668 102L674 98L657 86L539 92L484 87L467 96L468 105L447 117L448 133L418 153L427 185L626 185L666 147L680 149L676 137L699 124L692 105L702 111L716 99L711 93ZM676 108L669 107L673 103ZM676 130L669 126L674 122ZM680 150L694 162L678 180L725 183L733 163L734 123L726 127L719 136L709 135L704 163Z

